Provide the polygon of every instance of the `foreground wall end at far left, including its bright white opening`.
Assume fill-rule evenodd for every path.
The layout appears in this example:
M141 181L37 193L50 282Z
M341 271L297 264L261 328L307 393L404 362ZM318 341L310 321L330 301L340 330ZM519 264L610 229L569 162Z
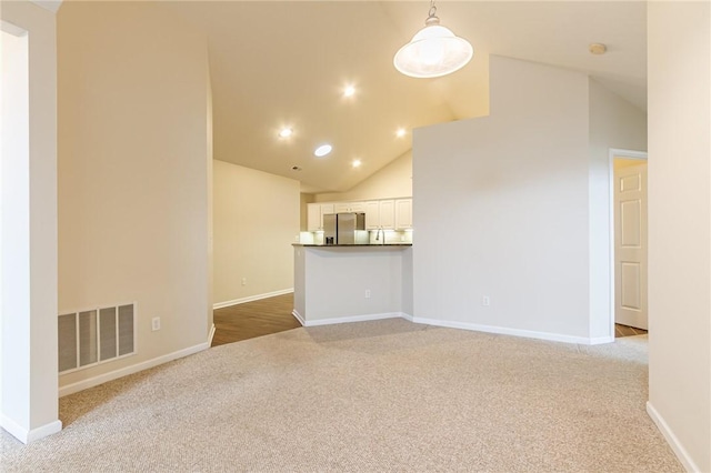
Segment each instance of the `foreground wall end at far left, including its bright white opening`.
M0 425L22 442L61 429L57 375L57 58L54 13L2 2L2 29L23 30L20 57L2 51L3 209ZM12 28L17 27L17 28ZM17 39L17 38L16 38ZM22 43L22 44L21 44ZM8 69L19 79L6 89ZM8 120L7 114L12 114Z

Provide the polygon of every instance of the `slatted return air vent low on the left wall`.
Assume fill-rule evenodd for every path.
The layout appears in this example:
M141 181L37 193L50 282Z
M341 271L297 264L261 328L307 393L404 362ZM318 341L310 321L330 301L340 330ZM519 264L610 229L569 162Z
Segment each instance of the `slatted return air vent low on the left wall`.
M59 315L59 372L136 353L136 303Z

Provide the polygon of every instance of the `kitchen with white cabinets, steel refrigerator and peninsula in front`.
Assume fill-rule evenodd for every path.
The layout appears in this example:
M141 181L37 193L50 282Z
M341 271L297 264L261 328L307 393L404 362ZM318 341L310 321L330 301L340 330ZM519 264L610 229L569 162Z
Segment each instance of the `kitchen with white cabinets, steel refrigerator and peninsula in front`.
M303 326L412 314L412 199L313 202L294 250Z

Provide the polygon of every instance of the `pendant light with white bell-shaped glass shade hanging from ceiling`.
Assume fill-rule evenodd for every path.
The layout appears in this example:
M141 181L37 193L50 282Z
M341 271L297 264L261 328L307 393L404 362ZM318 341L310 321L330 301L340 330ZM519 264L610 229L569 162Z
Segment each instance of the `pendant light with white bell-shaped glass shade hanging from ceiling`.
M405 76L438 78L460 70L473 54L474 50L469 41L440 26L434 0L431 0L424 28L412 37L412 41L400 48L393 64Z

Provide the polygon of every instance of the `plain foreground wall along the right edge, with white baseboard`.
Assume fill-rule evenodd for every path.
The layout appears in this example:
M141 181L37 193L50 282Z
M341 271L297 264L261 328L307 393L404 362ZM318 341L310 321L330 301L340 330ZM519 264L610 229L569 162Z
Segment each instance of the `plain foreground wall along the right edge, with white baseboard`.
M649 404L711 471L711 4L648 3Z

